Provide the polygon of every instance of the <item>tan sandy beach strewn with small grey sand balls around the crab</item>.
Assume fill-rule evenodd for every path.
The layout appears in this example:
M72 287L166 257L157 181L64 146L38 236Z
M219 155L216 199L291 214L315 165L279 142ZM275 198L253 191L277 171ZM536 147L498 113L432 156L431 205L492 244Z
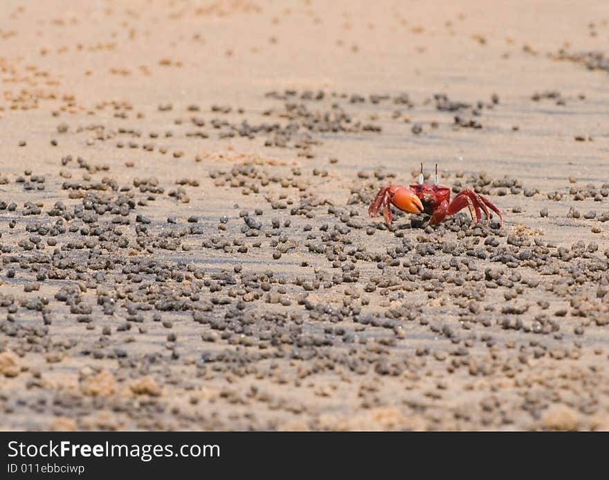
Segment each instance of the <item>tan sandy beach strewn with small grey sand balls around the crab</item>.
M609 429L609 5L329 3L3 1L0 428Z

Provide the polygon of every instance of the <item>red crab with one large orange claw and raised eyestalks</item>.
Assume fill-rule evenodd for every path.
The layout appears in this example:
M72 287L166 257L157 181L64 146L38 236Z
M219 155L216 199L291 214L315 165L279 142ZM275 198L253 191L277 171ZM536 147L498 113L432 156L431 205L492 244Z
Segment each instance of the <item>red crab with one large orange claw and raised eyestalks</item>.
M482 210L484 216L487 217L487 224L489 224L493 216L493 213L489 211L490 208L499 215L501 226L503 226L503 217L499 209L473 190L463 190L451 202L451 189L438 184L437 164L433 185L423 183L423 163L421 163L421 174L417 185L410 185L410 188L403 185L384 186L368 207L368 215L374 220L376 214L383 208L385 223L390 225L391 208L389 204L410 213L427 213L431 216L429 219L431 225L439 224L446 215L454 215L465 207L469 208L472 221L480 222L480 211Z

